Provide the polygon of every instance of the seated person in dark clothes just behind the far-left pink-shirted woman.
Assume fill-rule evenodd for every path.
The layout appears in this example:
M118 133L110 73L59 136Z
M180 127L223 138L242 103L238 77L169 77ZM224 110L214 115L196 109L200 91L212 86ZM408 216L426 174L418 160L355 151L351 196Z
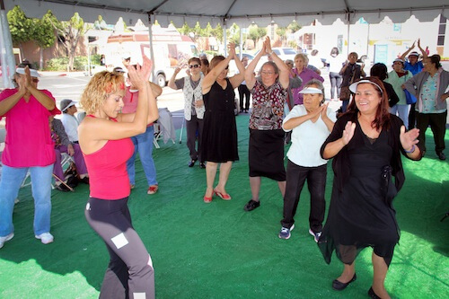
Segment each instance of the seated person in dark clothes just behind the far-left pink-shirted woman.
M70 143L61 120L55 119L51 116L49 118L49 126L51 131L51 139L55 143L56 152L56 161L53 166L53 174L55 174L59 180L66 182L61 165L61 153L67 153L74 157L76 171L78 171L78 174L80 175L80 180L85 184L89 184L89 174L87 173L87 168L84 163L84 157L81 152L80 145ZM56 181L56 189L64 192L68 191L69 189L59 180Z

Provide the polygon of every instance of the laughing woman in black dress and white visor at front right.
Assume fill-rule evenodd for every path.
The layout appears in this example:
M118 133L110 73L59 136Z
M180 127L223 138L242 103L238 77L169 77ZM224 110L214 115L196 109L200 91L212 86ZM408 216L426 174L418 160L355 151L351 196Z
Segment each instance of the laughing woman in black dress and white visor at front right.
M421 158L419 131L406 133L401 119L388 112L387 93L377 77L351 84L350 90L355 101L321 147L324 159L334 158L334 182L319 246L327 263L335 250L345 265L332 283L336 290L357 279L357 254L373 247L374 279L368 294L390 298L383 282L399 241L392 199L405 180L400 153Z

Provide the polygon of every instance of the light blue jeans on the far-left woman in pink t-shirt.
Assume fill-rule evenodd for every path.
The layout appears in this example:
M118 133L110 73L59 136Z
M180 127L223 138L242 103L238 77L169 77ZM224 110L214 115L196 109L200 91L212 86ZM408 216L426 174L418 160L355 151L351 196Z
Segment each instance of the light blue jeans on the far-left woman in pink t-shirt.
M51 173L53 164L44 167L9 167L3 165L0 180L0 236L13 233L14 199L17 198L22 180L31 172L31 190L34 198L34 234L50 232Z

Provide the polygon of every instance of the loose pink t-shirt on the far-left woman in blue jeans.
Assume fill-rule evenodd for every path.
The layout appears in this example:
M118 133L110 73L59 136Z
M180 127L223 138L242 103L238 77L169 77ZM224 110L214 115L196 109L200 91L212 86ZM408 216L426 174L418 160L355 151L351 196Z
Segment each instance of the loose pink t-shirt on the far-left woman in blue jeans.
M0 101L18 92L5 89L0 93ZM55 98L47 90L40 90L53 101ZM6 118L6 140L2 163L9 167L48 166L55 163L55 146L51 140L48 117L56 114L48 111L31 95L30 101L19 100L14 107L0 116Z

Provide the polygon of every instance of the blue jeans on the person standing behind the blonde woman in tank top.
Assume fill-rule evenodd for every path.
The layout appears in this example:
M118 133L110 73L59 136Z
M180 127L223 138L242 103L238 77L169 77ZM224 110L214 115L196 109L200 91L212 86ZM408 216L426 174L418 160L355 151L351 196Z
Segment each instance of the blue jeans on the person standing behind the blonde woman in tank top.
M156 180L156 168L153 161L153 138L154 127L150 126L146 128L146 132L137 136L131 137L134 144L134 154L129 158L127 162L127 171L129 176L129 182L131 185L136 184L136 154L139 152L140 162L144 167L145 177L148 181L148 186L157 185Z

